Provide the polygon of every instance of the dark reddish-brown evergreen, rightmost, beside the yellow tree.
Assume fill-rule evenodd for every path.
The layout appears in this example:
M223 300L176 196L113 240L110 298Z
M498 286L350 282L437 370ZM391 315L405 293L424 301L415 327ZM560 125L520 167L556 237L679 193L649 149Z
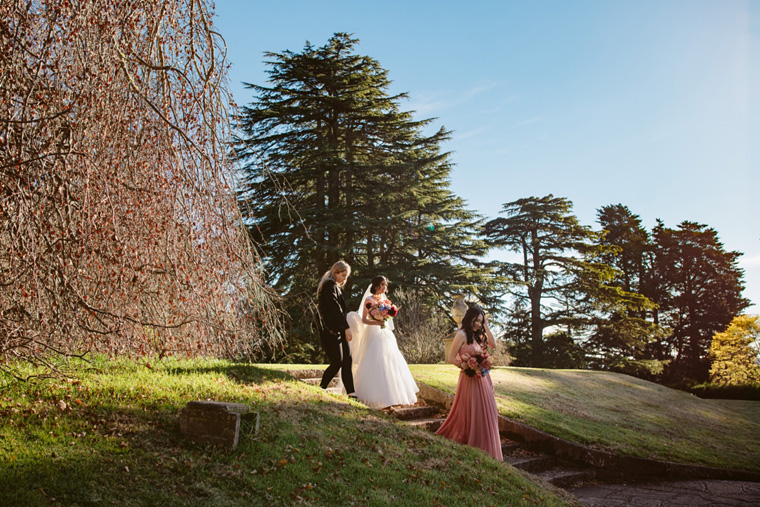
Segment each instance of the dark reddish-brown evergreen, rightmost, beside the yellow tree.
M655 322L670 328L658 359L673 359L675 379L706 380L712 336L749 305L741 253L725 251L714 229L695 222L669 229L658 221L653 236Z

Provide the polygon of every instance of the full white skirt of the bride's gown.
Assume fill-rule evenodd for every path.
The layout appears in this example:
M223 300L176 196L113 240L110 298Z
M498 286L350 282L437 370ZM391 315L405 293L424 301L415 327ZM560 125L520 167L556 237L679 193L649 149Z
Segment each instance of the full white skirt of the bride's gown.
M419 388L388 328L366 326L354 370L356 397L372 408L414 405Z

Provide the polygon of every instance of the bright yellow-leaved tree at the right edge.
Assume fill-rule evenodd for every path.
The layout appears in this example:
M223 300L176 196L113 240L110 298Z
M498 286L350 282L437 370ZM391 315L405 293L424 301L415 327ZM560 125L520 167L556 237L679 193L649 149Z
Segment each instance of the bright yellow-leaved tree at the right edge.
M738 315L710 344L710 380L721 385L760 384L760 320Z

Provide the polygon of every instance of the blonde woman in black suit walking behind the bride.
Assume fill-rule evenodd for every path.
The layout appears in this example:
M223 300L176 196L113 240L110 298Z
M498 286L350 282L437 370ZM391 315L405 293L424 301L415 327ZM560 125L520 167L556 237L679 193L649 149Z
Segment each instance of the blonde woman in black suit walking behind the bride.
M317 288L319 302L319 341L327 354L330 366L322 374L320 387L326 389L330 381L341 371L341 379L346 393L356 398L354 393L354 376L351 372L351 330L346 321L346 302L343 299L343 287L351 274L351 266L345 261L338 261L329 271L322 275Z

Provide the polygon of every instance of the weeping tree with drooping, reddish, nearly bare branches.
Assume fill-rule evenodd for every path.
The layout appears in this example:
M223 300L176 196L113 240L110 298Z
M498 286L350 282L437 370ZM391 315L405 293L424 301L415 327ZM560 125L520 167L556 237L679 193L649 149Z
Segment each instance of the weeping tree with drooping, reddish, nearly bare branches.
M0 4L4 368L282 340L235 201L211 15L205 0Z

